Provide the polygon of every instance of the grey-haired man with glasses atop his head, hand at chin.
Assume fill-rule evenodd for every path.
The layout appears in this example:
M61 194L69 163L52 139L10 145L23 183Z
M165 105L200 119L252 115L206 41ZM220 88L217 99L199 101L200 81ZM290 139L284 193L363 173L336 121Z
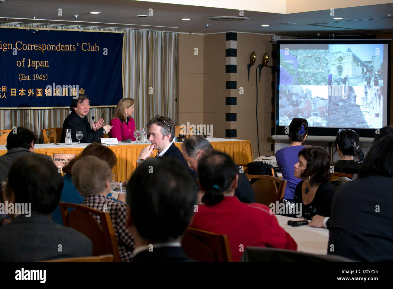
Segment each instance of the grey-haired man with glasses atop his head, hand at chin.
M165 116L156 116L152 118L147 123L147 131L151 145L142 149L136 161L137 164L140 164L150 155L153 155L153 149L156 149L158 151L156 158L162 156L176 158L188 168L182 152L173 143L175 127L170 118Z

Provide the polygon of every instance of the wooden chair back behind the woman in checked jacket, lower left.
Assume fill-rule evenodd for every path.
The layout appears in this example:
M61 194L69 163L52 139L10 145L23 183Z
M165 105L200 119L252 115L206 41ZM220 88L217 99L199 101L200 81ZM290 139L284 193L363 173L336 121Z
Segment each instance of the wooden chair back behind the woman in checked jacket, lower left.
M64 202L59 202L59 206L64 226L81 232L92 241L93 256L112 254L114 256L114 261L120 262L118 242L109 213L104 213L78 204ZM68 208L74 210L68 212ZM99 216L101 226L92 215Z

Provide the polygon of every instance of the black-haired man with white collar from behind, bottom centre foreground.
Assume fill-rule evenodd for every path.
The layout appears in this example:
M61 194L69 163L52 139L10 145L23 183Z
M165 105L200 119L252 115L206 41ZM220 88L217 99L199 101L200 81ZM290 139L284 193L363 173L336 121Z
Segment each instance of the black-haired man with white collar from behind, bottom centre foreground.
M133 261L193 261L180 242L191 223L195 202L193 179L178 160L150 158L138 166L127 186L127 227L135 241Z

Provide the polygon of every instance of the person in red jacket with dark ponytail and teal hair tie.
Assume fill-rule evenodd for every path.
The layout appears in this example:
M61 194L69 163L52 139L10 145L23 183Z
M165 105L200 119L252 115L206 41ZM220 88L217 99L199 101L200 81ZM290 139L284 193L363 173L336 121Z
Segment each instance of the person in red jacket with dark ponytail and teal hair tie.
M239 245L296 250L298 245L263 204L242 203L235 197L239 175L232 158L213 151L198 162L198 184L204 204L198 205L191 227L228 235L233 261Z

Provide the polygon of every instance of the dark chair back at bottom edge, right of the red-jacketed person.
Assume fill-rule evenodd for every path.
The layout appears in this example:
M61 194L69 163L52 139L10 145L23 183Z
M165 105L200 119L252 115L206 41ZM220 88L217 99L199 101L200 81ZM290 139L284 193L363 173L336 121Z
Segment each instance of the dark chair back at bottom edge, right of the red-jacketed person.
M316 255L294 250L246 247L241 262L353 262L338 255Z

